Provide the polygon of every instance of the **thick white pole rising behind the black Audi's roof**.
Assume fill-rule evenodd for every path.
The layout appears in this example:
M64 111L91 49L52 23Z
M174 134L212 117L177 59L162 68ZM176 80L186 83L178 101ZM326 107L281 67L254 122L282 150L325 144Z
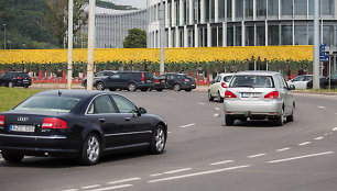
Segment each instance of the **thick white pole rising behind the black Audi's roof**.
M89 0L87 90L93 90L94 83L95 4Z

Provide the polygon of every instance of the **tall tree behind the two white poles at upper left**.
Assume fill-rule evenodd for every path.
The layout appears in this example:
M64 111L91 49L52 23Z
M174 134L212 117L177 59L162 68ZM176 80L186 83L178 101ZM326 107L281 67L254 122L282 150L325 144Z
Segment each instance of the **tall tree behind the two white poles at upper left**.
M44 0L44 2L48 8L44 13L46 26L53 32L58 46L62 47L65 44L68 27L68 0ZM78 31L88 22L85 4L86 0L74 0L74 34L79 34Z

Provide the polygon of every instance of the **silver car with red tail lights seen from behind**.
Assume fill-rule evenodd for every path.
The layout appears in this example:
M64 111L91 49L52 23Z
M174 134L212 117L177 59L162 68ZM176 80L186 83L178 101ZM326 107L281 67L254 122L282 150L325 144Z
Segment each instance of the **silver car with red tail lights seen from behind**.
M225 122L232 125L235 120L272 120L282 126L283 120L294 121L295 101L279 72L241 71L233 75L225 92Z

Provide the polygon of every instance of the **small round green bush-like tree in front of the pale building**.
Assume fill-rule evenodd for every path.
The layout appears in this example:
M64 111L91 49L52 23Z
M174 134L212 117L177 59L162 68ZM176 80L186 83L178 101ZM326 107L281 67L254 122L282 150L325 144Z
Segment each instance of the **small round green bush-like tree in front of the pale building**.
M146 47L146 32L134 27L129 30L129 35L123 42L124 48L145 48Z

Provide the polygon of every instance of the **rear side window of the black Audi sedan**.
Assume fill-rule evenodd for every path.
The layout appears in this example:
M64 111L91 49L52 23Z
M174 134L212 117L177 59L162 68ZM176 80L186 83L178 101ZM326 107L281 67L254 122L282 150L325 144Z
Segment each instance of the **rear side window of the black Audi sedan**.
M116 113L115 106L109 96L100 96L91 102L88 114Z

